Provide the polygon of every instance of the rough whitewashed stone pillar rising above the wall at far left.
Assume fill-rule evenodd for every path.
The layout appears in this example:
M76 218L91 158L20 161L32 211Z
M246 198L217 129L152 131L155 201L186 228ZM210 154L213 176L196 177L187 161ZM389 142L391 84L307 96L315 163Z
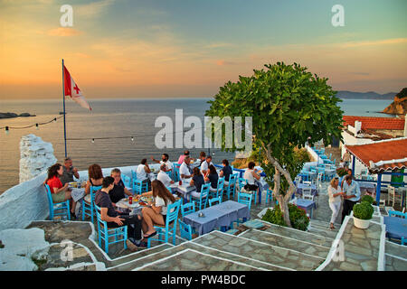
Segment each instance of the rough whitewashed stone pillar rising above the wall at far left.
M20 141L20 182L33 179L57 163L52 144L39 136L24 135Z

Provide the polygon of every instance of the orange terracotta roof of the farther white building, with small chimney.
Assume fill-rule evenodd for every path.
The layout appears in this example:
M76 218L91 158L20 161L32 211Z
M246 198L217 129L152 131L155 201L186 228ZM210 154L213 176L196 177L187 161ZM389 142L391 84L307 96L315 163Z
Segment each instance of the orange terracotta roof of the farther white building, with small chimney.
M362 129L404 129L404 119L399 117L355 117L344 116L344 126L355 126L355 121L362 122Z

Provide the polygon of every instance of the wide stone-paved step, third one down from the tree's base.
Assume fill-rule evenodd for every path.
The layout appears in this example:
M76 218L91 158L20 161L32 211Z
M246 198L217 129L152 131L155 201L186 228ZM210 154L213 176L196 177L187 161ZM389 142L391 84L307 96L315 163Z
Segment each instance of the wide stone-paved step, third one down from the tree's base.
M289 270L310 271L325 261L325 257L311 256L285 247L244 238L244 235L243 237L232 236L220 231L213 231L202 238L194 239L193 242Z

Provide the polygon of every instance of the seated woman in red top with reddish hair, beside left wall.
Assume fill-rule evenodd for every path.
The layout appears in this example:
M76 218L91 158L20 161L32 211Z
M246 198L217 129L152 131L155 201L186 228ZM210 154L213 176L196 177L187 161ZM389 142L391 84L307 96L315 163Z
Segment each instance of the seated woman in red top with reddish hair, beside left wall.
M50 186L52 201L55 203L62 202L65 200L70 200L71 207L71 216L73 219L76 219L75 216L75 207L76 202L72 200L71 189L68 188L68 182L62 186L60 177L63 173L63 167L61 163L55 163L48 168L48 177L45 180L45 183Z

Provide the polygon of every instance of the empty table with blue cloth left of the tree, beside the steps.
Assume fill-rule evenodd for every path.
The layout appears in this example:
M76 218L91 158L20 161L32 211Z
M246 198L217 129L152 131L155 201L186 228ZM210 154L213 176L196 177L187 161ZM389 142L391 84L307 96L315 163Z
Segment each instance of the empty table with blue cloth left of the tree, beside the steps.
M198 217L200 212L203 212L205 217ZM227 200L188 214L183 218L183 221L195 228L199 235L203 235L211 232L214 228L229 227L232 221L240 218L251 218L249 207L234 200Z

